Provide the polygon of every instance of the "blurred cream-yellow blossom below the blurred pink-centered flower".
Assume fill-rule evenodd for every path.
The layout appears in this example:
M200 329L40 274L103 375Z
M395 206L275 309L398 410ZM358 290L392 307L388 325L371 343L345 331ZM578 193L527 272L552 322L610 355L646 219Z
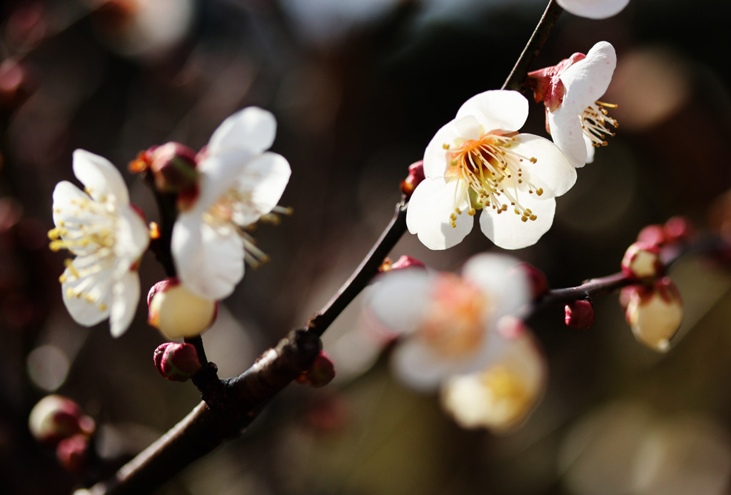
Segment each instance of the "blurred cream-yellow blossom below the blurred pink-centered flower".
M545 390L548 368L523 322L505 317L491 344L493 359L482 371L450 378L442 406L463 428L507 433L518 428Z

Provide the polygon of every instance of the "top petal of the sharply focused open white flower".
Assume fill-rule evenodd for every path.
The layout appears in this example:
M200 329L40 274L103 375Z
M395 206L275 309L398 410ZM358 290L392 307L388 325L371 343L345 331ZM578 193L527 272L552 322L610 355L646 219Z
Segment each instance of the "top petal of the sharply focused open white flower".
M475 116L484 132L517 131L528 118L528 100L518 91L493 90L471 97L457 112L457 119Z

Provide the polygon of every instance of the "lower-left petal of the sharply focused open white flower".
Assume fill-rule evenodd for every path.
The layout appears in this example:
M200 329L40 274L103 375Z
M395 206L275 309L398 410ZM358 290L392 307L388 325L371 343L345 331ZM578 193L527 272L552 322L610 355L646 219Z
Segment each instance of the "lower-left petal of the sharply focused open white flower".
M419 240L429 249L447 249L462 242L472 230L474 220L467 214L469 208L463 181L443 178L428 178L414 190L409 209L406 211L406 227L417 234ZM450 224L450 215L455 207L461 209L457 215L457 226Z

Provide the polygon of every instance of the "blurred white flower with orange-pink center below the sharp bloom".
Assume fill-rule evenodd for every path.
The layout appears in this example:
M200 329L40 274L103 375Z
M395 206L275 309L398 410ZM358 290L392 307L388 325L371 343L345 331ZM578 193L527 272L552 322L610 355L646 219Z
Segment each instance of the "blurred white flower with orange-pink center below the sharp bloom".
M472 257L462 275L401 270L386 273L369 294L366 318L376 330L403 337L393 353L407 385L436 388L455 374L480 371L493 359L496 322L529 301L516 260Z

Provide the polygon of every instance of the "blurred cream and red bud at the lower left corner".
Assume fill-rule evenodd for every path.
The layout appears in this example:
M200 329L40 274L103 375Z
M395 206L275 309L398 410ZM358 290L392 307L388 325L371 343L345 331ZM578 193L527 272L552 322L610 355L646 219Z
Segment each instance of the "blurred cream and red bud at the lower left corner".
M76 434L90 435L96 425L70 398L50 395L31 409L28 427L35 439L53 446Z

